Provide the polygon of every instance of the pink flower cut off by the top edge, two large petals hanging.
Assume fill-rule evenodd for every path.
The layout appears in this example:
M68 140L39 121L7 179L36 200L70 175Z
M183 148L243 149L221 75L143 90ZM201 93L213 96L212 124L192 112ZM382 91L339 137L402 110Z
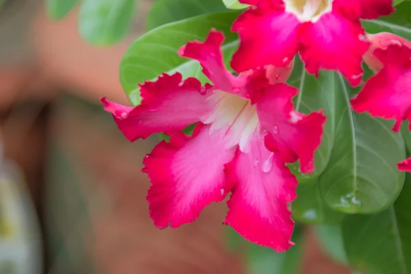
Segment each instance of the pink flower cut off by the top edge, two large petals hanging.
M232 67L246 71L284 66L297 52L309 73L340 71L353 86L361 82L362 55L369 47L360 18L393 12L392 0L242 0L256 5L238 16L232 27L240 47Z

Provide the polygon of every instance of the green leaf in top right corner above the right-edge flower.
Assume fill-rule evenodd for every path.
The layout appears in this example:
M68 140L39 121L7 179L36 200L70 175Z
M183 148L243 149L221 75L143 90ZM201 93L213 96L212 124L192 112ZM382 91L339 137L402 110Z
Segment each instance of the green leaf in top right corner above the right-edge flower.
M378 20L364 20L362 25L366 32L375 34L378 32L391 32L403 38L411 40L411 2L404 1L397 5L396 12L390 16L382 16Z

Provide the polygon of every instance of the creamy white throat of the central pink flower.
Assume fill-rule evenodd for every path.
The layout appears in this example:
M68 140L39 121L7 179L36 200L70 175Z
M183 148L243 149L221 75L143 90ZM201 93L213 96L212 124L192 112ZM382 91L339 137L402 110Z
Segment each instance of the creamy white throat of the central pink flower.
M241 151L245 151L249 137L258 126L256 107L248 99L222 91L215 91L208 102L215 107L201 122L212 124L210 134L222 129L229 147L240 145Z

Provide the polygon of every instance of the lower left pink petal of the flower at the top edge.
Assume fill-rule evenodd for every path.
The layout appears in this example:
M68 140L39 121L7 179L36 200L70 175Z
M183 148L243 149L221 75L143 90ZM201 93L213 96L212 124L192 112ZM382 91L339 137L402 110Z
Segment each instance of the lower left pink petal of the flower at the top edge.
M286 66L297 54L297 17L285 12L283 5L266 2L249 8L234 21L232 30L240 36L231 63L235 71L266 64Z

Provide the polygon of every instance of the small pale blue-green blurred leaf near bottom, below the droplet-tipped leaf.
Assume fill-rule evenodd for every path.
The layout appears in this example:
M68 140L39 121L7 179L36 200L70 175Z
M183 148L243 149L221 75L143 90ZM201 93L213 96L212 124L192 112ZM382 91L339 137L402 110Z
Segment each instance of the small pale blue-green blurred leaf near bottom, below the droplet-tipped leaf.
M347 264L344 249L343 229L340 225L317 225L314 227L316 237L327 254L340 264Z

